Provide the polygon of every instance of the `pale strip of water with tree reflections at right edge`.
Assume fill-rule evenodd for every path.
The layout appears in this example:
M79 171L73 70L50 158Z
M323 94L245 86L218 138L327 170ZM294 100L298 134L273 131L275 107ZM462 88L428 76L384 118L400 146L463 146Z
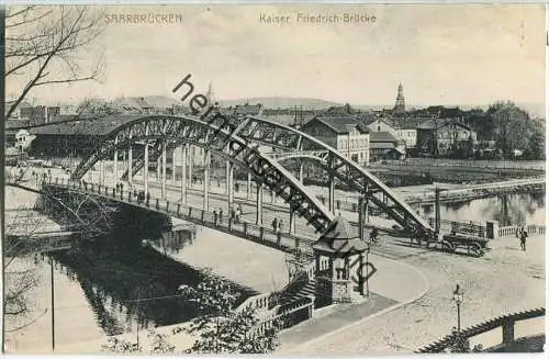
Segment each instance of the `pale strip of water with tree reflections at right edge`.
M444 203L440 217L453 221L498 221L501 226L545 224L545 193L515 193L464 202ZM424 216L434 216L434 205L422 206Z

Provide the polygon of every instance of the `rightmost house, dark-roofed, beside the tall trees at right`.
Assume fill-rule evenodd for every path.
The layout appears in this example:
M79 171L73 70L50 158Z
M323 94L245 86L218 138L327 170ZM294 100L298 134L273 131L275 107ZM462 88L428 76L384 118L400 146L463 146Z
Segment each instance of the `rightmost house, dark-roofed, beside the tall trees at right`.
M430 156L472 156L477 133L459 119L430 119L417 126L417 147Z

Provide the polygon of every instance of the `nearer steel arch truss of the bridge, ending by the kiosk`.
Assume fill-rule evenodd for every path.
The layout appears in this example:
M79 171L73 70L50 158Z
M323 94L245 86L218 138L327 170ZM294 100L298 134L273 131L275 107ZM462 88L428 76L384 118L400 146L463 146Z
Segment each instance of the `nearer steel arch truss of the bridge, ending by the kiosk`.
M238 135L237 128L203 122L192 116L144 116L127 122L113 130L85 158L71 173L72 180L82 179L98 161L112 158L117 149L131 148L134 144L146 144L153 148L147 155L128 160L127 172L136 173L144 167L146 159L156 160L167 148L180 144L202 147L248 171L257 183L273 191L290 205L298 215L304 217L316 232L327 228L335 215L315 197L310 195L305 187L296 180L276 159L264 155L258 146ZM148 155L150 153L150 156ZM130 167L131 166L131 167Z

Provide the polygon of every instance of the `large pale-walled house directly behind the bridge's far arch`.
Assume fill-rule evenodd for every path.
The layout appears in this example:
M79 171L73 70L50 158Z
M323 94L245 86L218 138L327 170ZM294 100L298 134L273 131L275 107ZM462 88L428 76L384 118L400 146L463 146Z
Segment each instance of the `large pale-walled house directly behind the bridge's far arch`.
M302 132L322 141L360 165L370 161L369 128L351 114L326 112L310 120Z

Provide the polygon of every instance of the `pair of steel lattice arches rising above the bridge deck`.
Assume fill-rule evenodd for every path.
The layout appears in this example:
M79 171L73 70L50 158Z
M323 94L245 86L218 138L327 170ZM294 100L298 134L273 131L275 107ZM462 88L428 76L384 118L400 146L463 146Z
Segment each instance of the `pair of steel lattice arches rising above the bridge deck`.
M208 122L194 116L143 116L108 134L96 150L80 162L71 179L80 179L98 161L119 149L146 144L128 161L122 178L137 173L146 161L157 160L166 150L193 145L212 152L248 171L257 183L271 189L290 209L304 217L317 232L334 220L336 183L359 192L404 227L434 234L429 224L367 169L330 146L295 128L255 116L215 115ZM260 148L268 146L268 153ZM150 147L150 150L148 149ZM298 177L292 162L298 161ZM327 172L328 209L302 184L302 164L310 161ZM294 165L294 164L293 164Z

